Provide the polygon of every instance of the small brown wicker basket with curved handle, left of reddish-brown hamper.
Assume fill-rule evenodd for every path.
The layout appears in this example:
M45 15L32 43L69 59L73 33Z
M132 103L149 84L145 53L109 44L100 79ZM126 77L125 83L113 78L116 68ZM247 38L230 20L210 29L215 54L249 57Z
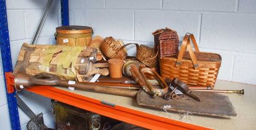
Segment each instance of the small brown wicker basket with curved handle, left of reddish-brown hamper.
M158 51L155 48L150 48L146 45L138 45L137 43L127 43L126 45L122 46L120 50L123 50L128 45L135 45L137 54L136 58L142 62L143 64L149 67L157 67L158 64Z

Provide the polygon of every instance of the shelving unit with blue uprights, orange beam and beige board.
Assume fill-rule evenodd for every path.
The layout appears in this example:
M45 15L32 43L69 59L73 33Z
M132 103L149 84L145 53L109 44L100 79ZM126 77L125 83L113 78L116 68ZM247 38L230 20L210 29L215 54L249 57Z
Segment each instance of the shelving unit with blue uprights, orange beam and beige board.
M62 25L69 25L68 0L60 0L62 12ZM17 111L16 91L13 88L11 51L7 27L6 0L0 0L0 47L3 72L6 78L6 95L9 107L12 129L21 129L19 113ZM219 87L219 88L218 88ZM245 95L229 95L239 118L219 119L204 116L190 116L189 121L180 121L178 113L152 110L137 105L134 99L105 95L101 93L68 90L60 87L40 86L30 87L27 90L44 97L52 98L68 105L73 105L84 110L92 111L103 116L118 119L130 124L148 129L248 129L255 122L256 85L239 84L218 80L216 89L245 89ZM249 111L249 112L247 112ZM251 113L250 113L251 111ZM241 116L242 115L242 116ZM224 124L224 126L223 126ZM236 125L235 125L236 124ZM225 128L226 127L226 128Z

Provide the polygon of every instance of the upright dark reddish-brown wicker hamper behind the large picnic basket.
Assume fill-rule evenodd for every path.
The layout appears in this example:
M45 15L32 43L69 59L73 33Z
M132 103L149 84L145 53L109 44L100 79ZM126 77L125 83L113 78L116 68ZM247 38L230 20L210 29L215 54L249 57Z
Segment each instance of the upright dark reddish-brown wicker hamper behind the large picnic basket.
M166 27L152 33L154 35L155 48L159 46L160 58L178 54L179 37L175 30Z

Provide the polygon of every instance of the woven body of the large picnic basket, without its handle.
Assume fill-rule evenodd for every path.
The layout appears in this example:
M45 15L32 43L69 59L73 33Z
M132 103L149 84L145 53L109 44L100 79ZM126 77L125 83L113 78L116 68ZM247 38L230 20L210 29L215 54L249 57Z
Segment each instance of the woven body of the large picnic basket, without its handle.
M215 53L196 54L197 59L205 59L206 57L218 57L219 60L198 61L198 69L194 69L190 59L183 58L180 67L176 67L176 57L167 57L160 59L160 72L163 79L173 79L177 77L188 85L211 86L217 79L219 67L221 67L221 56ZM204 57L201 57L204 56ZM201 58L199 58L201 57Z

